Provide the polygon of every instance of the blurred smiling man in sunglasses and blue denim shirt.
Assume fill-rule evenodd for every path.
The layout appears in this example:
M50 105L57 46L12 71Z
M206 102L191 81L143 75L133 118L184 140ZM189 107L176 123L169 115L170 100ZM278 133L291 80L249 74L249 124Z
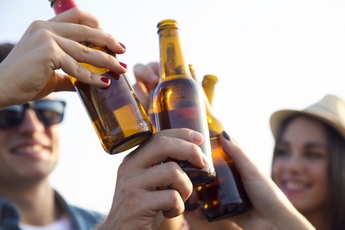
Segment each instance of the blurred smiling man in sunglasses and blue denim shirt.
M0 62L12 48L0 45ZM48 180L64 107L50 94L0 111L0 228L90 229L101 221L98 213L67 205Z

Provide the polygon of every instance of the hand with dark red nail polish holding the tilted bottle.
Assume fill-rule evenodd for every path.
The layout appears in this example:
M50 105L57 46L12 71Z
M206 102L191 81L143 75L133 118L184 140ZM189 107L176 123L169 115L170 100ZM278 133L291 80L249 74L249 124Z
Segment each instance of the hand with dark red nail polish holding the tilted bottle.
M115 53L125 47L100 29L98 20L78 8L63 12L48 21L34 21L0 64L0 108L23 104L42 98L54 91L74 91L66 75L54 72L62 69L78 80L104 88L102 81L78 62L125 73L124 64L104 52L90 49L81 42L107 47ZM15 93L14 93L15 92Z

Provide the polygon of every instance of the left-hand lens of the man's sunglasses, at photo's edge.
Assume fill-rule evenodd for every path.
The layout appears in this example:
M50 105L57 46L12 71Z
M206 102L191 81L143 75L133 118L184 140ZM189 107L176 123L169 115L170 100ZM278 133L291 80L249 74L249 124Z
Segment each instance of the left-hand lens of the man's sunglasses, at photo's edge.
M11 128L23 119L23 106L10 106L0 110L0 128Z

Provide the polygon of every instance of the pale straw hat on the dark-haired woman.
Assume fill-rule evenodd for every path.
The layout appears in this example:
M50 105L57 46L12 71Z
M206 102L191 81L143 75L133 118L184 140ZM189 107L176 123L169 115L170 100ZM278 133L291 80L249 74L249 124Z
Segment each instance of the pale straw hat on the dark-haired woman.
M280 110L270 118L271 131L277 138L282 123L296 114L305 114L333 127L345 139L345 102L338 96L326 95L322 100L304 110Z

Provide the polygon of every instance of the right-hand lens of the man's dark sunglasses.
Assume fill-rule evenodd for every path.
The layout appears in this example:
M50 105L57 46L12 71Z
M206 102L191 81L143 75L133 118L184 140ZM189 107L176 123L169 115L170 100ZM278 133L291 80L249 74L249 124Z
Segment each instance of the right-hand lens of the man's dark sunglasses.
M37 101L35 111L38 118L48 126L62 121L64 106L64 102L60 101Z

